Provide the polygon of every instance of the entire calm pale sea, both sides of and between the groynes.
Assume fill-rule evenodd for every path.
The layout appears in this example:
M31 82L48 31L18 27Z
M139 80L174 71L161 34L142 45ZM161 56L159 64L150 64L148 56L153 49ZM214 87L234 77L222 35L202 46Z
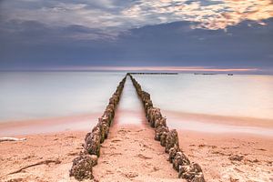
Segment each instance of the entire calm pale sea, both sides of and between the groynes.
M123 76L125 73L2 72L0 122L102 113ZM135 77L155 106L164 110L273 119L273 76ZM135 96L126 94L123 105L134 109Z

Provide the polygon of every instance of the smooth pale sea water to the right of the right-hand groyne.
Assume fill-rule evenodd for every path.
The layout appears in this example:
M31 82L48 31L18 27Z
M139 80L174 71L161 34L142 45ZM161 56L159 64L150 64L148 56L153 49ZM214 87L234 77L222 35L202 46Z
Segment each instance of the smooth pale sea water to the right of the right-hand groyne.
M164 110L273 119L273 76L135 76Z

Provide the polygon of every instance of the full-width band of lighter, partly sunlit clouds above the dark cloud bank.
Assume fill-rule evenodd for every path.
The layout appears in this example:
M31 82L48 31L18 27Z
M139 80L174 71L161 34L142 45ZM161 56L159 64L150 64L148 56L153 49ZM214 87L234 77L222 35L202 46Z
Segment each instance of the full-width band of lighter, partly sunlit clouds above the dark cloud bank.
M37 21L48 26L81 25L115 37L144 25L194 22L192 28L225 29L244 20L264 25L273 16L271 0L3 1L5 21ZM94 35L90 36L94 38ZM86 36L84 36L86 38Z

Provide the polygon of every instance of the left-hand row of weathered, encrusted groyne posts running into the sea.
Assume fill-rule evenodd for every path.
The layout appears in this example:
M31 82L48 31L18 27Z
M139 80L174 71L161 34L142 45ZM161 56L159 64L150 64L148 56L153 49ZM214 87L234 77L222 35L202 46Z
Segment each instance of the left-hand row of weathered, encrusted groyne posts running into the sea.
M92 167L96 166L97 158L100 156L100 144L102 144L108 136L109 128L115 116L116 106L120 100L126 77L122 79L116 87L116 92L110 97L109 103L103 116L98 118L98 123L93 127L92 131L86 134L84 151L73 160L69 176L75 177L77 180L92 179Z

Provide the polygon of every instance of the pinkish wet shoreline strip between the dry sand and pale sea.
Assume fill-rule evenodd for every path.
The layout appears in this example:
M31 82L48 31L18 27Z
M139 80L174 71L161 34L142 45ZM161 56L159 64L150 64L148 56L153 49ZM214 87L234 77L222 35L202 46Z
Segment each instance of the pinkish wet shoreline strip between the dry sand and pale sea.
M123 99L122 99L123 100ZM128 103L123 104L128 105ZM137 109L122 109L122 116L118 118L119 124L136 124L142 123L144 116L141 105ZM246 118L234 116L211 116L201 114L179 113L174 111L162 110L162 115L167 117L167 125L172 128L189 130L193 132L207 133L243 133L258 136L273 137L273 120ZM88 131L96 125L97 118L101 113L79 115L79 116L62 116L46 119L6 121L0 122L0 136L17 136L32 135L41 133L52 133L58 131Z

